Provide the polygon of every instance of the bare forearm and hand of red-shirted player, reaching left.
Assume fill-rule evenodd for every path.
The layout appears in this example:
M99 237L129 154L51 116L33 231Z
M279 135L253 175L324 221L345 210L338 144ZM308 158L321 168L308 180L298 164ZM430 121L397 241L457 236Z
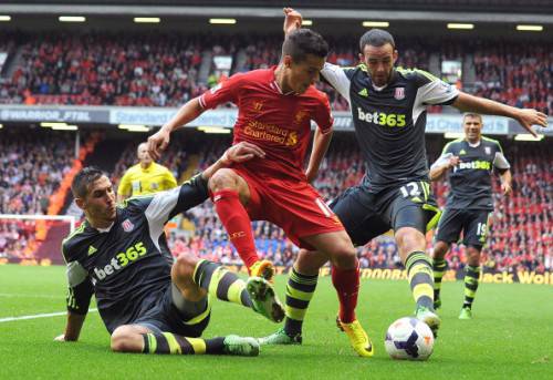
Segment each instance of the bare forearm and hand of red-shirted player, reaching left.
M186 125L204 113L199 99L188 101L159 131L148 137L148 153L154 161L159 160L161 152L169 145L170 134L177 127Z

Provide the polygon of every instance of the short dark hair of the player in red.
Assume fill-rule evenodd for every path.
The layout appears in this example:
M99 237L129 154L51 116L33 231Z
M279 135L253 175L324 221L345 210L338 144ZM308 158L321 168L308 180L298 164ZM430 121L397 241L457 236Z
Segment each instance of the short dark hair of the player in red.
M328 44L321 34L311 29L298 29L286 35L282 43L282 57L290 55L294 62L302 62L307 54L319 58L328 55Z

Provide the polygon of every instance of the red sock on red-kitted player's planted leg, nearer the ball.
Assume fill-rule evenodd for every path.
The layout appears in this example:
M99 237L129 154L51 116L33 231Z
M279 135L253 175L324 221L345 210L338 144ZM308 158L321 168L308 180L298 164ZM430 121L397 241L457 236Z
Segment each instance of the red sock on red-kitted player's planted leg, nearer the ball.
M355 307L359 292L359 265L355 269L342 270L332 266L332 284L340 299L340 320L351 323L355 320Z

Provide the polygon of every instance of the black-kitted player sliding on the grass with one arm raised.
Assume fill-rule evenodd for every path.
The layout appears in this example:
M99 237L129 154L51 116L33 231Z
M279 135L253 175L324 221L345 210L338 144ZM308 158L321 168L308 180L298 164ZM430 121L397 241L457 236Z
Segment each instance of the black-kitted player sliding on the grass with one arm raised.
M63 243L69 296L65 332L60 341L79 339L96 297L114 351L182 355L259 355L253 338L199 338L210 318L210 299L219 298L280 321L284 311L271 285L252 277L244 283L218 264L186 254L175 263L164 225L208 198L207 181L223 165L263 152L241 143L182 186L116 205L108 177L85 167L72 192L85 220ZM209 296L208 296L209 295Z

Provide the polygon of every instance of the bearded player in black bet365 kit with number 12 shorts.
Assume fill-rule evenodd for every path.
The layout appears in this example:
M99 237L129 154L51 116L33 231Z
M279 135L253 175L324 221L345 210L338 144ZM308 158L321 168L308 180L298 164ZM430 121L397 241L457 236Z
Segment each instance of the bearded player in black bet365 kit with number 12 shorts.
M286 8L284 13L285 33L301 28L299 12ZM359 49L358 66L325 63L321 71L323 79L349 103L368 168L361 185L348 188L330 206L356 245L365 245L390 228L394 230L416 301L415 314L436 331L440 318L434 310L432 261L426 255L425 234L437 224L440 210L430 193L426 162L427 105L450 104L461 111L509 116L531 133L533 124L546 125L546 115L462 93L424 71L395 68L398 52L394 38L384 30L366 32L359 40ZM290 281L294 276L303 276L311 279L314 288L319 269L327 260L324 251L301 250ZM286 310L299 301L304 314L309 300L302 298L286 297ZM261 341L268 345L298 341L303 314L286 312L284 330Z

